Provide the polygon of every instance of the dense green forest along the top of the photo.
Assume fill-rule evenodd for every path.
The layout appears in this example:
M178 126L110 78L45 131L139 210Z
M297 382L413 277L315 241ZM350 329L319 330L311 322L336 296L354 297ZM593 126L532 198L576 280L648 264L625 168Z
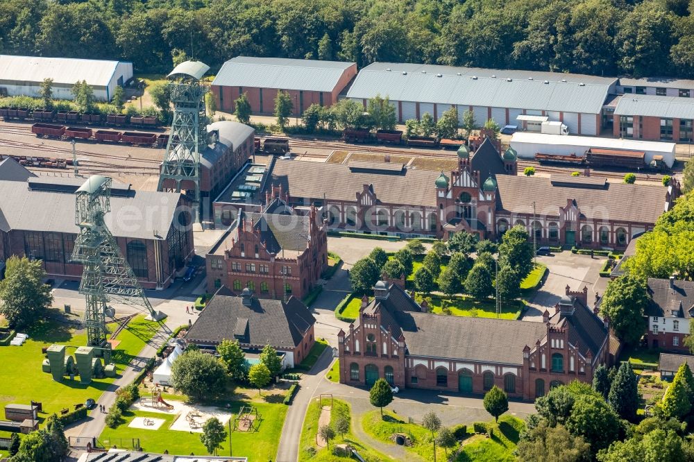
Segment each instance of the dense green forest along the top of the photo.
M0 53L425 62L694 77L688 0L0 0Z

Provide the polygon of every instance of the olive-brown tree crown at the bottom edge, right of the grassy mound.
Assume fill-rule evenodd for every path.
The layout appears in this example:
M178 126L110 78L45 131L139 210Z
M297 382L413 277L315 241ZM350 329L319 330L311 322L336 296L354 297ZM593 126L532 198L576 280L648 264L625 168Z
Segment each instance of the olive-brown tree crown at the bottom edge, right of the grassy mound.
M551 427L541 419L539 425L525 431L518 441L518 460L585 462L591 460L591 446L582 436L574 436L564 425Z

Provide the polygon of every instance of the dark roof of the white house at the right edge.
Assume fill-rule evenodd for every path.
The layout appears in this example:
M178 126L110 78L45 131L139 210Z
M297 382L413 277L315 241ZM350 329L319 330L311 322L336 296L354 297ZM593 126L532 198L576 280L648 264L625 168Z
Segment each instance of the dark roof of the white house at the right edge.
M694 281L648 278L648 295L651 300L646 308L646 316L661 318L693 318L690 310L694 307ZM673 311L675 313L673 314Z

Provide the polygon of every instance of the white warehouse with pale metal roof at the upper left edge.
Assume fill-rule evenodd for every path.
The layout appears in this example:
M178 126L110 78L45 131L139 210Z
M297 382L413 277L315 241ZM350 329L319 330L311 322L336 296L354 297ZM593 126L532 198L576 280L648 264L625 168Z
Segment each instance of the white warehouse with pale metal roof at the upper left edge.
M40 96L45 78L53 79L53 98L74 99L72 87L86 80L97 101L110 101L118 85L133 78L133 63L124 61L0 55L0 94Z

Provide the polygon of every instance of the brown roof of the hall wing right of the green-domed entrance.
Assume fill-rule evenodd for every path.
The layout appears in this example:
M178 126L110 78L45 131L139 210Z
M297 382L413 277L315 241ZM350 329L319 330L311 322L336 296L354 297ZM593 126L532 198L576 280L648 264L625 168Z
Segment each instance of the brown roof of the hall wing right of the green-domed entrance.
M559 207L566 207L573 200L586 219L655 223L665 212L666 191L647 185L625 185L605 182L595 187L593 178L585 184L571 178L566 182L552 178L498 175L496 209L498 212L532 214L535 201L536 213L557 216Z

